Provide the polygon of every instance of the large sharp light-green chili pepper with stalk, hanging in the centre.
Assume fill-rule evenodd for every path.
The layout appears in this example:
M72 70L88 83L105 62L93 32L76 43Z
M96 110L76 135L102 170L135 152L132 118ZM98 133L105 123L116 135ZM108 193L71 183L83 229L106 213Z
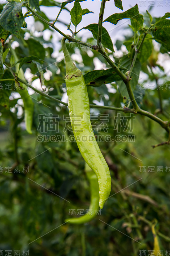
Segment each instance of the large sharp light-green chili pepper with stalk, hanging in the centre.
M90 121L89 97L84 77L81 71L74 65L67 50L65 40L66 38L62 39L62 49L66 62L65 81L70 121L81 155L96 173L99 184L99 206L103 209L103 205L110 195L110 171L93 133Z

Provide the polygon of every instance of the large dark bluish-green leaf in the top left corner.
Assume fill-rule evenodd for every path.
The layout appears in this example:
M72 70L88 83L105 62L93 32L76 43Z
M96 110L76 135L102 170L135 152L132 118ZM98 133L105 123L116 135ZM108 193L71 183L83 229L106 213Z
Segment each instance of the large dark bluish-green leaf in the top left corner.
M19 38L20 30L24 21L22 14L23 3L9 2L0 16L1 26Z

